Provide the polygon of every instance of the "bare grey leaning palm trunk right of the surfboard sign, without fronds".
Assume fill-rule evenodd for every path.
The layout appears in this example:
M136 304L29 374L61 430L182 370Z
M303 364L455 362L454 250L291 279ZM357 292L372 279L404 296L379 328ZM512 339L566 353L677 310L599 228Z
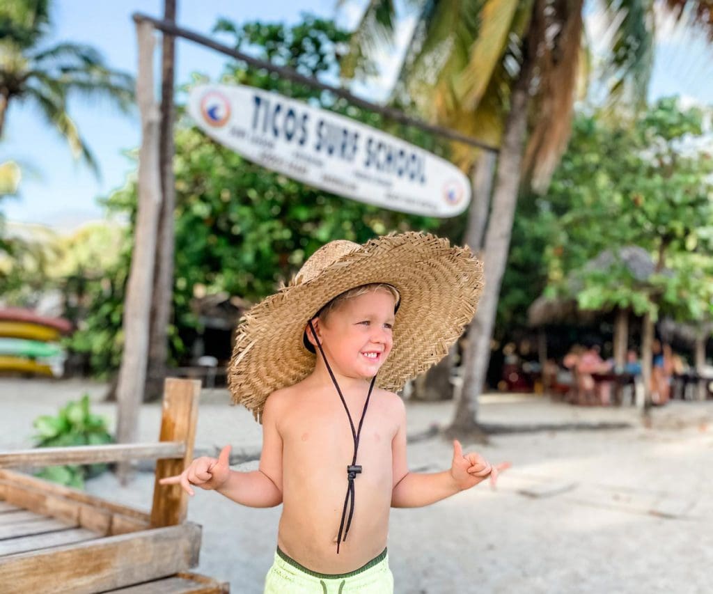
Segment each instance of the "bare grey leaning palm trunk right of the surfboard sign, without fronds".
M540 9L540 2L536 2L533 8L533 21L537 18ZM480 434L477 420L478 396L485 384L490 362L490 343L495 326L498 297L508 260L515 204L520 186L520 165L527 134L530 78L533 61L537 55L533 49L539 45L541 34L540 27L535 26L533 22L523 48L523 66L511 96L511 109L503 134L491 215L486 232L483 262L486 283L476 316L468 327L468 342L463 357L465 365L463 389L456 404L453 421L448 428L451 433Z

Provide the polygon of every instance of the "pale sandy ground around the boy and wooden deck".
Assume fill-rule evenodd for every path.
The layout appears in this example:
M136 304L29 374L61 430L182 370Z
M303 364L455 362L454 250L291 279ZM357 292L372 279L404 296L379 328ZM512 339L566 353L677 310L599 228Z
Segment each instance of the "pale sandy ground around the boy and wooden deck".
M105 386L87 382L0 379L0 449L31 445L32 419L54 414L84 392L113 427ZM232 444L238 456L260 451L260 426L225 391L204 391L196 447ZM409 434L447 424L452 403L409 401ZM389 560L396 593L708 593L713 591L713 402L674 402L645 426L632 408L577 408L541 396L481 399L488 424L627 424L498 434L469 446L509 460L497 491L481 484L417 509L394 509ZM143 406L140 439L158 436L158 404ZM447 468L451 442L434 436L409 444L416 471ZM257 462L234 466L257 468ZM148 510L153 475L128 487L111 474L88 483L106 498ZM197 570L230 582L235 593L261 593L275 551L280 508L237 506L198 491L189 519L203 526Z

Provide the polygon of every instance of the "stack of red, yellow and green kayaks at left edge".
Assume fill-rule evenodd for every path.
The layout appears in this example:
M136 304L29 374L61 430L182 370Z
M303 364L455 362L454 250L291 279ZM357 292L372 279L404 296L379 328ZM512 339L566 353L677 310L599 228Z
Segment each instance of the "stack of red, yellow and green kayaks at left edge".
M60 376L65 354L56 341L69 332L66 319L30 309L0 309L0 373Z

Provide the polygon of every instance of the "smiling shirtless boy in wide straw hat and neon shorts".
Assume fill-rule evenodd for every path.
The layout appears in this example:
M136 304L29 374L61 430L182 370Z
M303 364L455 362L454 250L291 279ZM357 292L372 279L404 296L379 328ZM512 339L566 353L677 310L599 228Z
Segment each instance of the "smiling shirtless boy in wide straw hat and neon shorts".
M226 446L162 483L283 504L265 593L391 593L390 508L426 506L488 476L495 484L506 465L463 456L458 441L449 470L409 472L394 393L461 335L481 277L467 248L433 235L337 241L247 312L230 389L262 422L260 469L231 471Z

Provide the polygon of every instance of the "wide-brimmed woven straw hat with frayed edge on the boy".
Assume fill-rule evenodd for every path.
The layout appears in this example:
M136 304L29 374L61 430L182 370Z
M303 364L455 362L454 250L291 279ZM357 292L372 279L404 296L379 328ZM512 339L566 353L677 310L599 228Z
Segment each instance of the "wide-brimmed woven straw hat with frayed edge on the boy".
M422 232L391 233L364 245L329 242L304 262L289 285L250 308L237 327L228 368L233 401L262 422L273 391L314 369L304 329L337 295L370 283L393 285L401 295L389 357L376 385L399 391L406 380L440 361L473 318L483 289L483 266L471 250Z

